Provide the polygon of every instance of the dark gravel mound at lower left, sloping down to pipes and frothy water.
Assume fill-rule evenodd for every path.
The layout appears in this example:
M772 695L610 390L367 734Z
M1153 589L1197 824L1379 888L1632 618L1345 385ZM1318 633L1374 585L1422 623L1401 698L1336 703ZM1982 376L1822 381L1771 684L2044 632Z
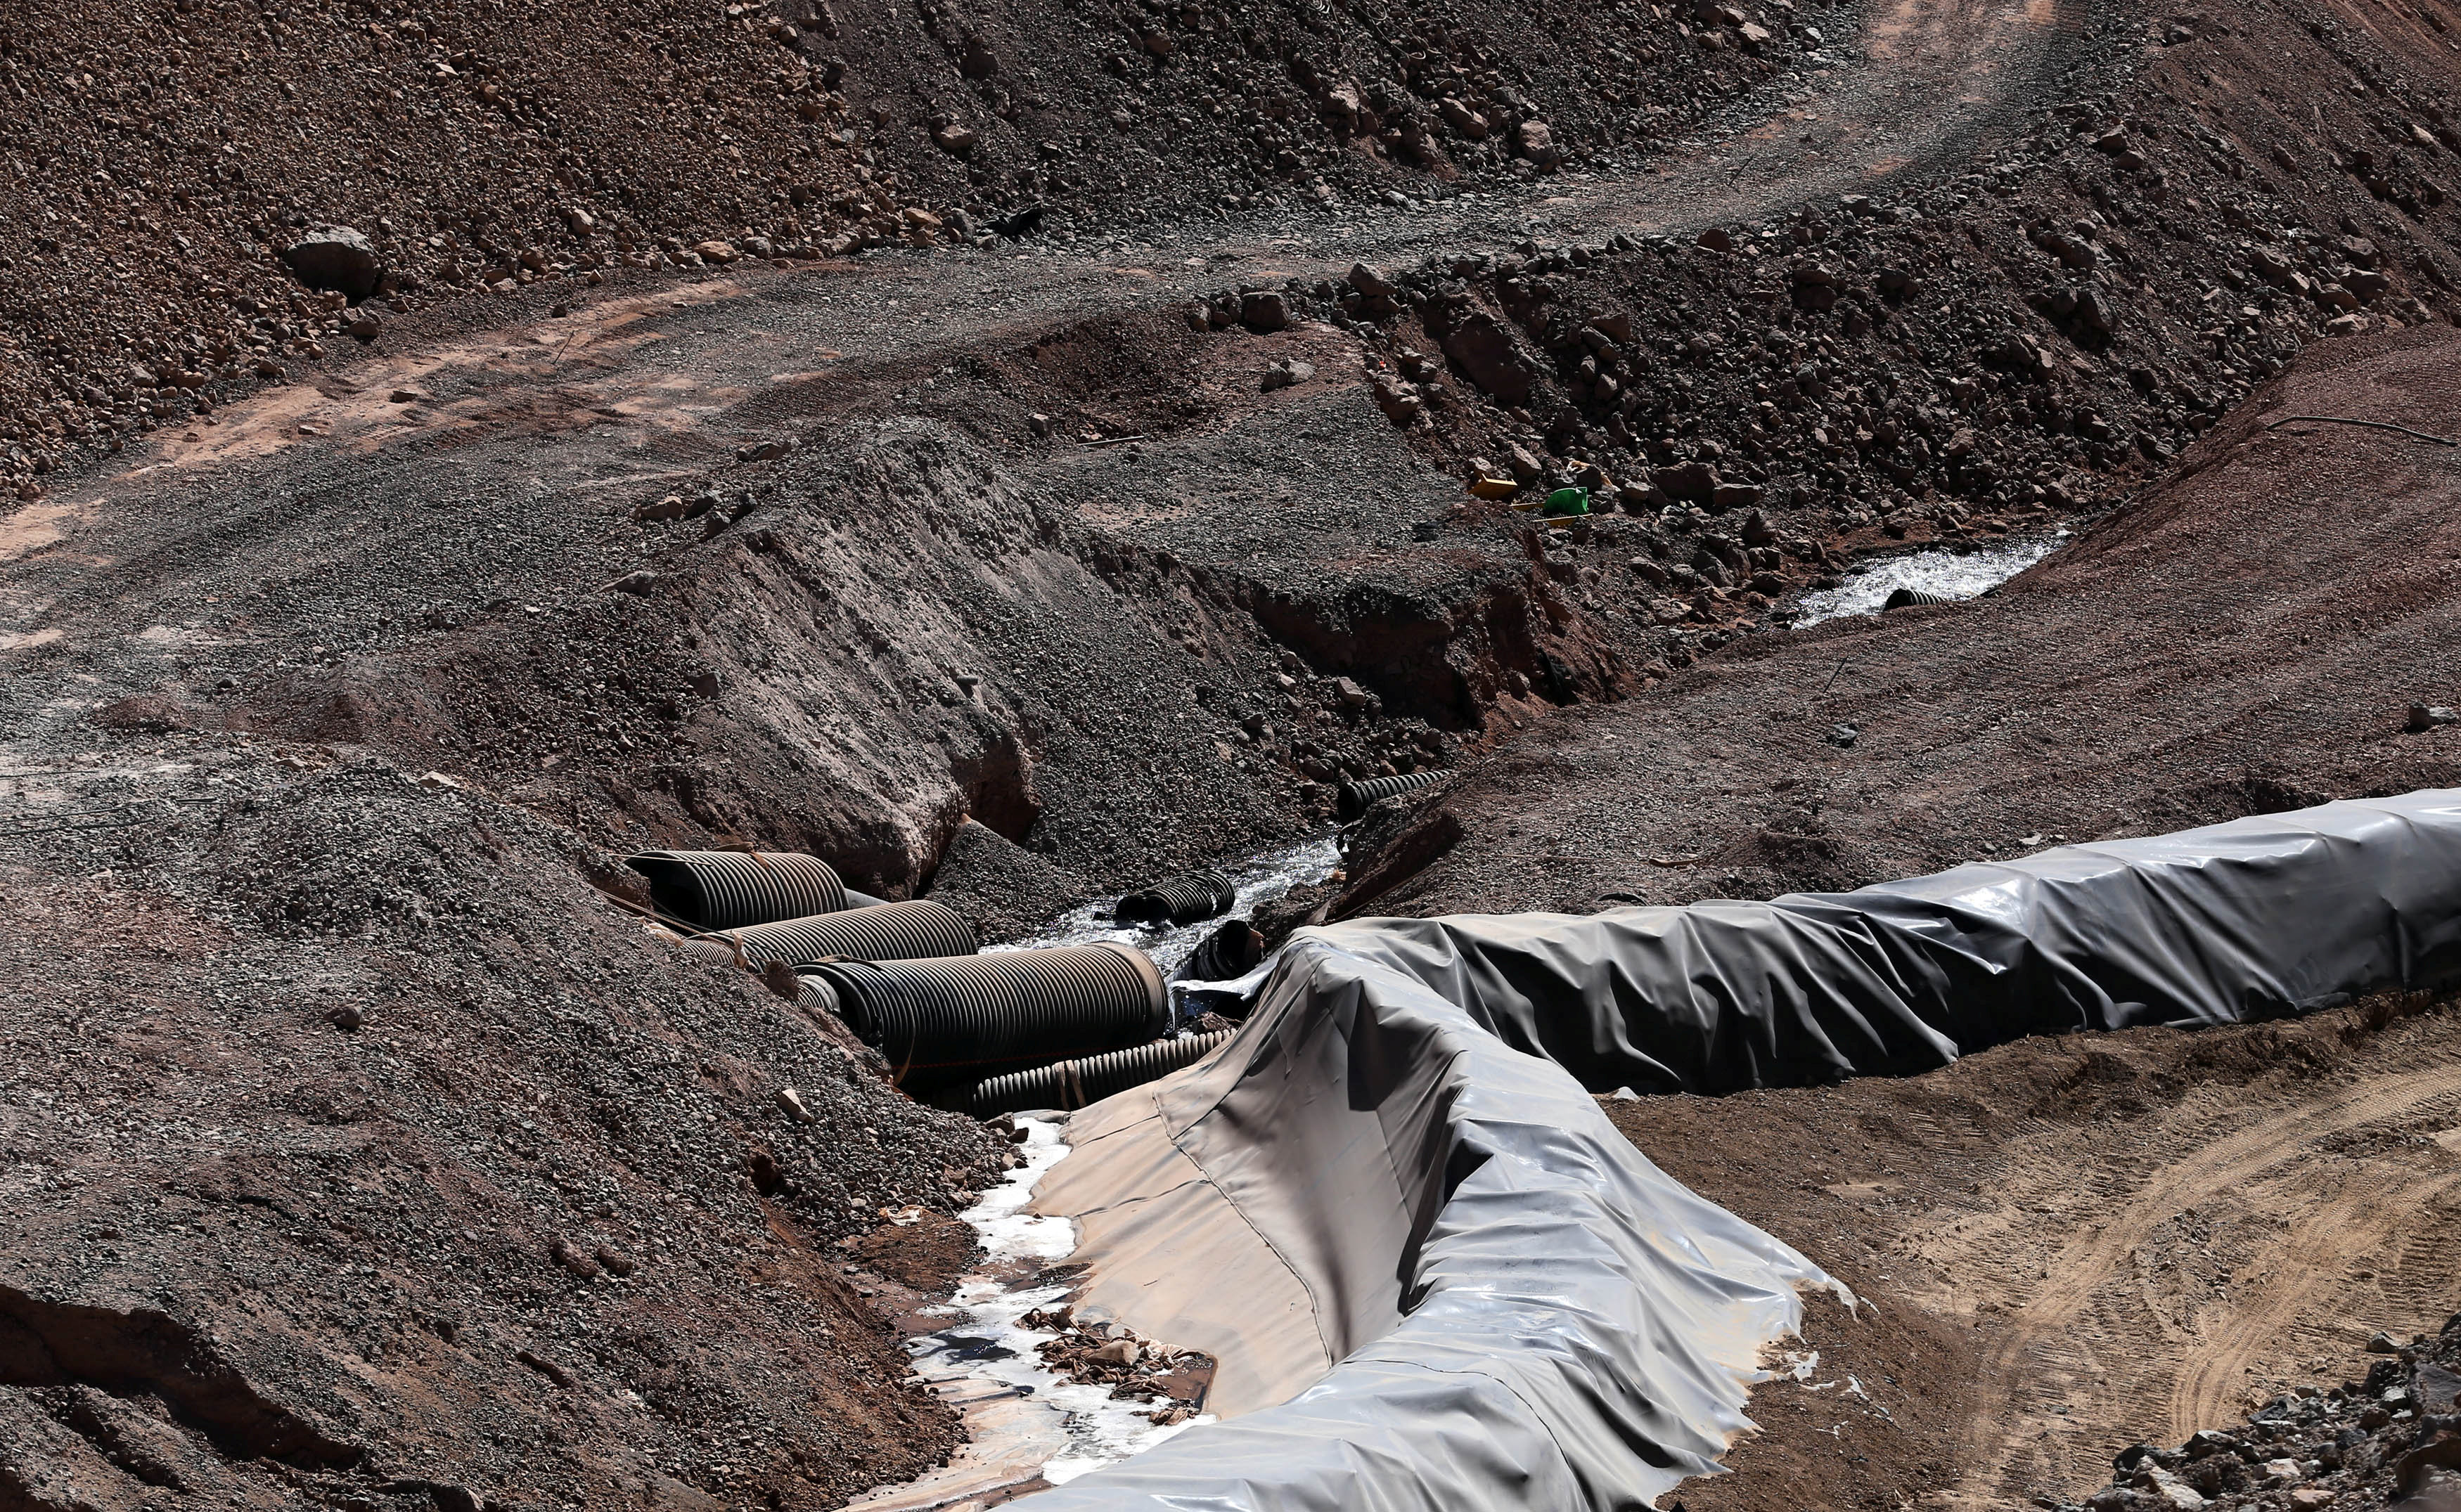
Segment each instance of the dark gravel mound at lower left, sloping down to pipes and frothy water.
M837 1239L1004 1146L522 809L263 747L12 772L79 816L0 858L0 1502L827 1507L945 1453Z

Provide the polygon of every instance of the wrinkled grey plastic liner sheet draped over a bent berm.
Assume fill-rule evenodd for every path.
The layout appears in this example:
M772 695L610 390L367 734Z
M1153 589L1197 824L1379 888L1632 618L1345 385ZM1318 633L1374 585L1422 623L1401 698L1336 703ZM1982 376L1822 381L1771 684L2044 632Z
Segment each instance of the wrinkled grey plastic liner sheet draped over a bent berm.
M1745 1426L1821 1274L1582 1079L1910 1072L2456 966L2456 792L1858 892L1307 929L1218 1055L1071 1121L1036 1202L1080 1222L1085 1305L1223 1355L1228 1421L1036 1505L1641 1507Z

